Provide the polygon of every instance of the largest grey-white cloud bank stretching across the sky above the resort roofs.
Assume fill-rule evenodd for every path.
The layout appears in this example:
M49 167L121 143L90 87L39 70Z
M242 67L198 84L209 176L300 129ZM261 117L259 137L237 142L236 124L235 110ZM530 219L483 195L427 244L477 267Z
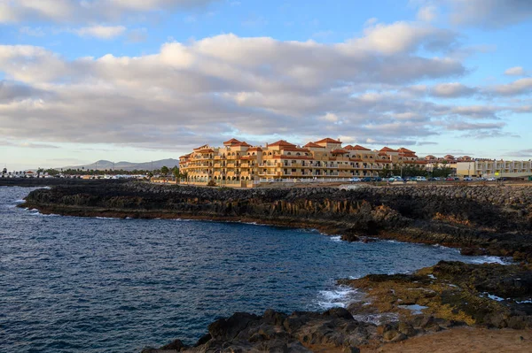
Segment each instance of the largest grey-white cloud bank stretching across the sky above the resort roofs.
M466 69L453 58L419 54L420 46L441 41L440 31L396 26L403 32L392 38L395 47L373 32L390 33L385 25L348 42L216 35L138 57L69 60L43 48L0 46L0 72L15 82L0 98L0 135L143 149L187 149L230 134L264 142L291 131L303 141L327 134L414 143L447 131L449 119L489 123L508 111L427 101L430 92L456 96L467 87L419 81L452 82Z

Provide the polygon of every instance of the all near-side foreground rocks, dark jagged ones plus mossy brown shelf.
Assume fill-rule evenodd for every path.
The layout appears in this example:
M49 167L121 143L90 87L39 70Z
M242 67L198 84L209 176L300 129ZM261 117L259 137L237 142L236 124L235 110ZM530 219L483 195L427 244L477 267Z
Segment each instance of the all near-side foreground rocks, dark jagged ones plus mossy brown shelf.
M364 290L367 298L323 313L238 312L209 325L193 346L176 340L143 353L358 352L456 326L532 328L528 265L441 261L412 274L370 274L339 282ZM356 319L390 312L395 315L382 315L379 325Z

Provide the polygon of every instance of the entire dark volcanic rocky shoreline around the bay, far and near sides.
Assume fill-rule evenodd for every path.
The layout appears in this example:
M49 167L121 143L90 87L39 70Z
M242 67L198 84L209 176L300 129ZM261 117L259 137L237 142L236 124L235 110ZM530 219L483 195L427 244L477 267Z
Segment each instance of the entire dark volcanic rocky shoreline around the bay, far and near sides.
M394 186L247 189L140 182L31 192L20 207L82 217L214 219L317 228L350 242L372 237L513 257L514 265L441 262L412 274L340 280L367 295L324 313L236 313L194 346L147 352L358 351L454 326L532 327L532 188ZM393 313L379 325L355 318ZM354 318L355 316L355 318Z

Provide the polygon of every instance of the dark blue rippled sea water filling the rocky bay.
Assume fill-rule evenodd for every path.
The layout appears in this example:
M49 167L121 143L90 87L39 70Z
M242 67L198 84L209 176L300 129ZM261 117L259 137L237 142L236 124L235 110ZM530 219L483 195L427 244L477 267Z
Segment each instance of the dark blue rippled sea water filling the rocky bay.
M342 304L348 292L335 279L485 259L273 226L43 216L14 207L29 191L0 187L2 352L192 343L234 311Z

